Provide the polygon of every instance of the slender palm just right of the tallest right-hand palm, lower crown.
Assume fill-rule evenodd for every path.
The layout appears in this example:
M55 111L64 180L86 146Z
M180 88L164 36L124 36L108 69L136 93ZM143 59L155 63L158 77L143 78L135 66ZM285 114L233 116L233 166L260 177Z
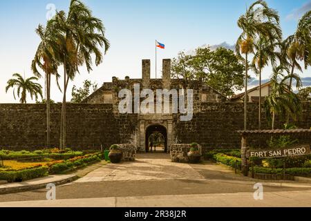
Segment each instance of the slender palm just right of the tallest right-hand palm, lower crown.
M272 66L275 66L276 58L281 60L281 52L277 52L276 48L280 46L279 37L275 39L267 40L263 37L260 37L254 48L256 52L252 60L252 67L255 70L255 73L259 75L259 101L258 101L258 128L261 129L261 72L265 66L271 61Z

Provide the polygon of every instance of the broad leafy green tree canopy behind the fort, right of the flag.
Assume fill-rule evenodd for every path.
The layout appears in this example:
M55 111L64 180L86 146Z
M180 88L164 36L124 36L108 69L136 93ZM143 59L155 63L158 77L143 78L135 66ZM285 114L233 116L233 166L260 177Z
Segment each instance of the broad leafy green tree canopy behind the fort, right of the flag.
M196 49L196 55L180 52L172 62L172 77L182 79L187 86L190 80L202 78L224 97L232 97L243 88L243 61L226 48Z

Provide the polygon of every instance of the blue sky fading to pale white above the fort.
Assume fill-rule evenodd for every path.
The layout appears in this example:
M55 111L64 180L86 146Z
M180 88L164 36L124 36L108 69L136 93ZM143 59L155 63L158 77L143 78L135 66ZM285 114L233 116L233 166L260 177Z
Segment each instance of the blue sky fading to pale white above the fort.
M179 51L224 41L235 44L241 34L236 21L252 2L254 0L84 0L95 17L104 22L111 48L104 62L97 67L94 64L91 73L81 68L80 75L69 84L68 100L72 86L82 86L86 79L101 86L113 76L141 78L142 59L151 59L154 78L156 39L166 46L158 50L158 77L162 59L172 59ZM0 1L0 103L19 102L12 90L5 92L8 79L13 73L32 77L30 65L40 41L35 28L39 23L46 24L46 17L53 11L50 6L67 11L69 3L69 0ZM267 3L279 11L284 38L294 33L299 18L311 10L310 0L267 0ZM265 68L263 78L270 75L270 68ZM310 68L304 70L301 77L311 77ZM44 86L44 79L39 82ZM52 83L51 98L60 102L62 93L55 79Z

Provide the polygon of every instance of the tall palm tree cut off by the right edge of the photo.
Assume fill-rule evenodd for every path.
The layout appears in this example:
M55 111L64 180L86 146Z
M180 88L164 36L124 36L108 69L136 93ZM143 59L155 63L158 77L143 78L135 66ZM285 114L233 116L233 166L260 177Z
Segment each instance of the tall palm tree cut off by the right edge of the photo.
M284 41L285 51L290 62L291 72L294 74L295 68L302 72L299 61L304 62L305 69L311 65L311 11L306 12L299 20L296 32ZM292 90L292 77L290 77L289 89Z

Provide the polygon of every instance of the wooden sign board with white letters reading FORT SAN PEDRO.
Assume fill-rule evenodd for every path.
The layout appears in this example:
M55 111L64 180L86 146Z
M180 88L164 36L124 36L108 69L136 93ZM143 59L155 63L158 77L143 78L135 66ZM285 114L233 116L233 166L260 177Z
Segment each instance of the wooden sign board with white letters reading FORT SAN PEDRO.
M310 146L303 145L291 148L275 149L275 150L250 150L247 151L246 157L257 157L259 159L265 158L282 158L282 157L297 157L303 155L310 155Z

